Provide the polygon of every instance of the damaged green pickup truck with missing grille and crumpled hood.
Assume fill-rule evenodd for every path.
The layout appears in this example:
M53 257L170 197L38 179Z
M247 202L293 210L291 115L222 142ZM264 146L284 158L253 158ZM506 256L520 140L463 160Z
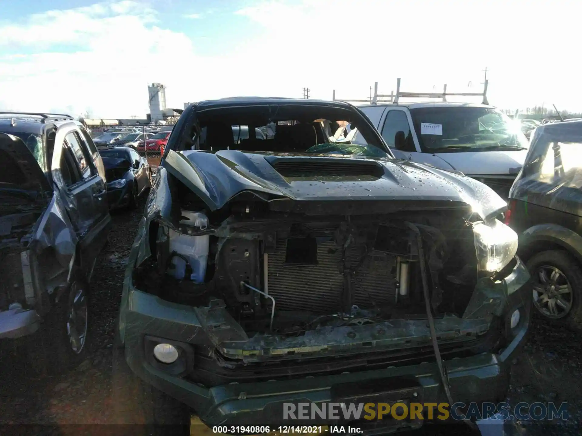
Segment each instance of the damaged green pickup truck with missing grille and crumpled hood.
M357 143L329 134L346 121ZM531 305L505 208L478 181L394 159L347 103L190 105L129 258L126 361L208 426L290 424L283 403L357 386L358 402L389 402L403 381L415 401L499 401Z

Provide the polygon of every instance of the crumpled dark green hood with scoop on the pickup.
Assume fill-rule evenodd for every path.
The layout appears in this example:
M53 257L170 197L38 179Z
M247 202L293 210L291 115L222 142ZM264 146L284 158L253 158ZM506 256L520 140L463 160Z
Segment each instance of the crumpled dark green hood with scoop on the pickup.
M309 171L289 176L275 169L281 163L285 166L293 163L300 169L315 163L320 167L340 165L345 170L347 165L348 170L343 176L310 175ZM352 171L363 165L371 168L374 175L362 176L357 174L359 171ZM506 206L491 188L469 177L389 158L169 150L162 166L212 210L222 208L233 196L244 191L262 194L267 199L297 201L456 202L470 205L481 217Z

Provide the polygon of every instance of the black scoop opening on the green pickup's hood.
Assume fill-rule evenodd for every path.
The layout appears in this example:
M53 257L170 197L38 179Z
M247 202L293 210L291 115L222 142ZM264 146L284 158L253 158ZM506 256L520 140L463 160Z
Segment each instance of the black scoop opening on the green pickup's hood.
M283 177L372 176L382 177L384 170L376 162L326 162L281 160L273 164Z

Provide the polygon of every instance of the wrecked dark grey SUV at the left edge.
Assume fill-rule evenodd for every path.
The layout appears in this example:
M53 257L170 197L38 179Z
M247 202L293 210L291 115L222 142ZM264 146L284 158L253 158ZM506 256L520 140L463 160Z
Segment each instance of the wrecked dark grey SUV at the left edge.
M88 282L111 225L103 162L72 117L10 112L0 162L0 345L36 334L65 369L87 348Z

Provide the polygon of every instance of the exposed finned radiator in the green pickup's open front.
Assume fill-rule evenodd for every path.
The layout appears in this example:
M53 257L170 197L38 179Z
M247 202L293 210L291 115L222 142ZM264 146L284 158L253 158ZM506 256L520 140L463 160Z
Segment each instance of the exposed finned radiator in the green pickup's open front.
M276 302L276 310L306 310L316 314L338 313L342 309L342 251L334 242L317 245L318 265L285 265L286 240L277 241L275 253L268 255L268 292ZM348 249L352 265L365 252L363 245ZM366 256L352 282L352 303L361 309L386 305L395 301L395 280L392 269L396 258ZM368 294L363 291L363 289Z

